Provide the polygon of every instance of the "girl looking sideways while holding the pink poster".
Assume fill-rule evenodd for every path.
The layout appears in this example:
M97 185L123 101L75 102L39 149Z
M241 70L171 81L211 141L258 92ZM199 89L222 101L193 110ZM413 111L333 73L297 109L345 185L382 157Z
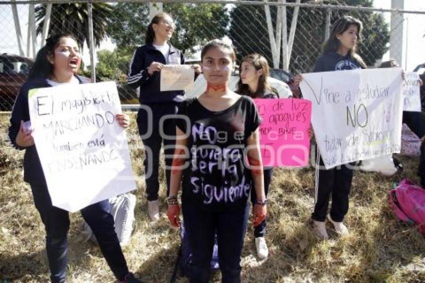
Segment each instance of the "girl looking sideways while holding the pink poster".
M267 83L270 68L267 60L260 54L249 54L242 58L239 64L239 81L237 93L252 98L278 98L277 91ZM273 167L264 167L264 191L268 193ZM251 193L251 202L256 202L255 193ZM267 243L265 242L265 219L254 227L255 249L259 258L268 255Z

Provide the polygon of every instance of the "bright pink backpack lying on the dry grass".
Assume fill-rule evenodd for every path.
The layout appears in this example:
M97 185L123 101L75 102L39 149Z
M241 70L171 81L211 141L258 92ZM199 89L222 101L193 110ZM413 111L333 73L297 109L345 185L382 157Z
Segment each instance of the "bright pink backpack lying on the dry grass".
M388 192L388 201L399 219L416 224L419 232L425 235L425 189L403 179Z

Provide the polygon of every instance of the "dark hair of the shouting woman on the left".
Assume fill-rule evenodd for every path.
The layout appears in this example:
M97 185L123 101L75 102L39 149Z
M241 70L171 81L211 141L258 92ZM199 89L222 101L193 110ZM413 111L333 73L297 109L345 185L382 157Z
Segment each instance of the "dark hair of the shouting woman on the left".
M35 56L35 61L29 71L28 78L44 78L53 73L53 65L49 62L48 57L54 56L54 48L59 45L60 39L63 37L69 37L76 41L75 37L70 33L57 33L48 37L45 45L38 50Z

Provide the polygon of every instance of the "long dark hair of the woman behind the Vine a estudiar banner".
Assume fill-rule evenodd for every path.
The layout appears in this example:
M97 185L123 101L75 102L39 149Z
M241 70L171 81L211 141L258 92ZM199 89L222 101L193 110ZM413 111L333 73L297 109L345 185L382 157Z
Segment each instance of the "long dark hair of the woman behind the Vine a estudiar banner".
M357 37L360 40L361 29L363 27L361 21L350 15L341 16L332 24L330 36L323 44L323 54L328 52L336 52L338 50L339 46L341 45L341 41L339 41L336 36L347 30L351 24L357 26ZM348 51L348 53L352 58L357 60L362 67L366 67L363 59L355 52L355 46L353 46Z

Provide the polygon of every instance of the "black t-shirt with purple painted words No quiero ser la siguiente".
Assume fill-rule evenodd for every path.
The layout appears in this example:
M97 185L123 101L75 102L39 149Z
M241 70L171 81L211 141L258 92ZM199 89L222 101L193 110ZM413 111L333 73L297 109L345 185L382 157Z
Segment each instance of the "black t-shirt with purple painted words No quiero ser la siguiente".
M183 202L210 211L236 210L246 205L252 187L246 168L246 140L260 124L255 104L240 96L222 111L210 111L199 101L185 100L176 119L188 136L188 167L183 172Z

